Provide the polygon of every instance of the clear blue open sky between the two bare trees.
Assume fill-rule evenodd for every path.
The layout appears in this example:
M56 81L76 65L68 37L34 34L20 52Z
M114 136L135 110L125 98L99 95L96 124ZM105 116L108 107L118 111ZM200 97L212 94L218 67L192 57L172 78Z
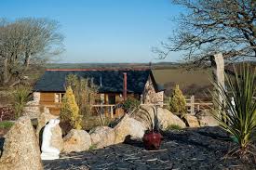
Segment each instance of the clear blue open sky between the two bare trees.
M0 17L58 20L65 51L58 62L177 61L178 53L159 60L152 52L175 29L182 9L170 0L1 0Z

